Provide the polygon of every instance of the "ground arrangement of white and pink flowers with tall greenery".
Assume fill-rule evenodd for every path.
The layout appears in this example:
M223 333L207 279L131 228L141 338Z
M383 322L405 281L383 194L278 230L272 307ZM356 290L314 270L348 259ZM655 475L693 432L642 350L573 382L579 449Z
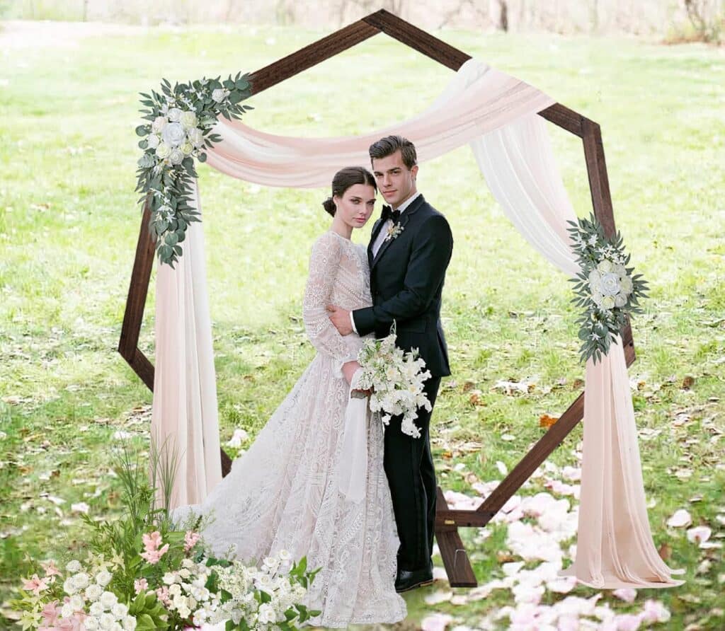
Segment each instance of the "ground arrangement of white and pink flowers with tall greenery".
M301 604L317 570L280 550L258 565L216 558L199 535L202 519L178 531L166 509L154 509L154 489L123 450L117 475L124 514L113 522L84 516L88 555L22 581L12 606L23 630L295 630L320 612Z

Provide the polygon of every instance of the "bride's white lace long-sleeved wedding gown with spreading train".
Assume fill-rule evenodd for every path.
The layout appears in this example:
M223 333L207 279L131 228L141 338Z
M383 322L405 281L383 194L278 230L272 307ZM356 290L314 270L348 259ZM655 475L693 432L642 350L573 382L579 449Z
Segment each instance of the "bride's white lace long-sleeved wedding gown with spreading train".
M364 246L332 230L312 247L303 304L318 354L202 506L181 506L172 517L181 522L189 511L213 511L202 536L218 554L235 544L244 561L259 562L281 548L293 559L307 556L307 567L322 568L304 603L322 611L312 624L389 624L407 611L394 588L399 540L383 469L383 428L368 412L365 497L352 503L334 475L349 401L341 366L356 359L362 340L339 335L328 318L330 304L372 304Z

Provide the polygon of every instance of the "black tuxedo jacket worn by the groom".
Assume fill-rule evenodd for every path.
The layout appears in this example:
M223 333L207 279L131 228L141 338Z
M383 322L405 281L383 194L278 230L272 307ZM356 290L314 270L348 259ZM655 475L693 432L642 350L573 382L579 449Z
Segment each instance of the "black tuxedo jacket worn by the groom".
M419 195L400 217L402 232L384 241L373 259L382 229L378 219L368 245L373 306L352 312L359 335L384 338L396 322L397 346L418 348L434 377L450 375L441 326L441 297L453 237L446 218Z

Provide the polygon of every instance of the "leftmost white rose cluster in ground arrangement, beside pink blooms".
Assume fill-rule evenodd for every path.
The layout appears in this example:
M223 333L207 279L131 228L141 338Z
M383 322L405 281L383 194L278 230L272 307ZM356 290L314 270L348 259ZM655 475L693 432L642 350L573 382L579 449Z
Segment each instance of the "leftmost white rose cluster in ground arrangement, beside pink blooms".
M128 613L128 606L118 602L115 593L107 590L113 576L105 569L91 577L83 572L80 561L70 561L66 568L70 575L63 582L63 590L69 596L61 607L63 619L75 618L77 612L83 612L83 627L88 631L133 631L136 618Z

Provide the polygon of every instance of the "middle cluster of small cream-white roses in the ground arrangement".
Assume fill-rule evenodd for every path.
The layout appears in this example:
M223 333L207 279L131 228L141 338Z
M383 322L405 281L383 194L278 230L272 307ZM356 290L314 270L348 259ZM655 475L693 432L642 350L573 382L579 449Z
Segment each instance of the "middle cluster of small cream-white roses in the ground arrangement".
M205 587L211 573L211 567L191 559L183 559L181 569L166 572L162 580L168 590L167 609L183 619L191 617L196 627L210 622L219 605L218 595Z

